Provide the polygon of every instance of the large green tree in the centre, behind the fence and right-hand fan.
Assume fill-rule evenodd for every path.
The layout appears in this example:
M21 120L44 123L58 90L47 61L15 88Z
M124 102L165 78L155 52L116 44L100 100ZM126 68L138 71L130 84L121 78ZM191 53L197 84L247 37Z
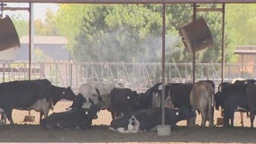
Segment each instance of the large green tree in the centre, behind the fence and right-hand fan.
M201 4L221 7L222 4ZM161 4L60 4L56 22L67 35L69 49L79 61L160 61ZM166 49L169 62L191 62L178 29L191 22L190 4L167 4ZM197 52L197 62L221 61L222 14L197 13L203 16L213 38L214 47ZM225 48L232 46L225 37ZM233 53L226 53L230 61Z

